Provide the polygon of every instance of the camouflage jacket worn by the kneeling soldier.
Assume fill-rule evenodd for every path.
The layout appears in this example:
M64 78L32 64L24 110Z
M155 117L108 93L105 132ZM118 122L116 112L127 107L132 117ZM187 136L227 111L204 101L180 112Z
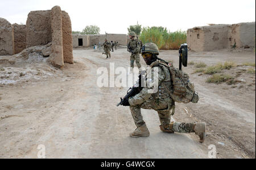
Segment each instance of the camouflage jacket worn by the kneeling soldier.
M136 96L129 99L131 106L140 105L149 100L170 99L171 74L167 67L160 67L161 61L155 61L148 66L146 86ZM155 73L155 75L154 75ZM151 77L150 77L151 76Z

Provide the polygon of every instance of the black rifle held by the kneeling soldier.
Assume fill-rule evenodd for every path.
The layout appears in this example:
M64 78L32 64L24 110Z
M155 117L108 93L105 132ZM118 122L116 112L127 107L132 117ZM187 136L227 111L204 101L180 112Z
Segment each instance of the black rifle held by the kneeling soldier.
M130 88L128 91L127 91L127 94L124 98L120 98L121 99L121 102L119 102L117 104L117 107L120 106L120 105L123 105L123 102L126 101L126 99L129 99L131 97L134 97L136 96L137 94L139 94L139 92L141 92L141 90L143 89L143 87L141 86L141 81L142 81L142 76L144 76L146 72L142 72L140 75L139 75L139 86L137 87L137 85L134 85L133 88Z

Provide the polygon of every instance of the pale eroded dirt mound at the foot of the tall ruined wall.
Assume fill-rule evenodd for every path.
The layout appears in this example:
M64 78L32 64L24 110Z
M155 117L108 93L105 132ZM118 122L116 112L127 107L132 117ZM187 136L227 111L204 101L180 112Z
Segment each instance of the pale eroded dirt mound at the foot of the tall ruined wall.
M51 43L24 49L13 56L1 56L0 85L40 80L57 76L59 69L49 62Z

